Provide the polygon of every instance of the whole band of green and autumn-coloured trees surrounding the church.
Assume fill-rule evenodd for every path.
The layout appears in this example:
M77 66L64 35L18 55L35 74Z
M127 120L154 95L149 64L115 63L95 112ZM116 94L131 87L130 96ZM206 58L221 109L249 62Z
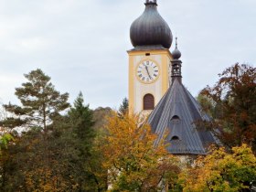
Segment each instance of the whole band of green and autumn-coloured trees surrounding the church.
M31 71L16 89L21 106L0 111L0 191L248 191L256 186L255 72L236 64L201 92L212 117L204 128L223 148L179 158L164 140L155 144L146 121L128 115L127 99L119 112L92 111L80 93L70 107L68 93Z

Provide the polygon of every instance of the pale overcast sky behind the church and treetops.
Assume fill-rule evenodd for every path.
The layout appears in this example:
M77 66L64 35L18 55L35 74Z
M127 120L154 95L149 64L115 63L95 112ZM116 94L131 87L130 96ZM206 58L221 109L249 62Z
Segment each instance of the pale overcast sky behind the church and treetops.
M143 11L144 0L0 0L0 101L16 103L23 75L39 68L70 102L82 91L93 109L118 108L129 29ZM158 0L158 11L179 38L192 95L236 62L255 66L255 0Z

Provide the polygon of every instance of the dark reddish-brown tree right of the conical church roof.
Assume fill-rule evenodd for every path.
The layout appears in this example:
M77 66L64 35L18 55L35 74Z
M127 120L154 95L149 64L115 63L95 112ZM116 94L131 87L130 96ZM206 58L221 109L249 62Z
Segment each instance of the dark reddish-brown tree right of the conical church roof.
M211 102L213 120L206 123L229 148L242 143L251 144L256 151L256 69L235 64L219 74L219 81L200 94Z

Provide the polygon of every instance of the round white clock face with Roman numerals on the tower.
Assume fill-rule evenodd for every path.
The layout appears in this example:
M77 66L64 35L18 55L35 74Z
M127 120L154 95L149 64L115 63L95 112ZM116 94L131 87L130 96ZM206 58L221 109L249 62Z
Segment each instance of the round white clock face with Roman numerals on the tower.
M144 83L152 83L158 76L158 65L152 60L144 60L137 67L137 77Z

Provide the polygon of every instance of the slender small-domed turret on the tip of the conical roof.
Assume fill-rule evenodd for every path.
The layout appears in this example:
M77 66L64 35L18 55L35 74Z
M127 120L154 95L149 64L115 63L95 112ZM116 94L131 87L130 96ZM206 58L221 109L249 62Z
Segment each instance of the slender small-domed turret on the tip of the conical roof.
M171 61L172 62L172 74L171 74L172 82L175 79L177 79L177 80L179 80L179 82L181 82L181 79L182 79L182 76L181 76L182 61L180 60L181 52L177 48L177 37L176 37L176 48L172 52L172 56L173 56L173 60Z

